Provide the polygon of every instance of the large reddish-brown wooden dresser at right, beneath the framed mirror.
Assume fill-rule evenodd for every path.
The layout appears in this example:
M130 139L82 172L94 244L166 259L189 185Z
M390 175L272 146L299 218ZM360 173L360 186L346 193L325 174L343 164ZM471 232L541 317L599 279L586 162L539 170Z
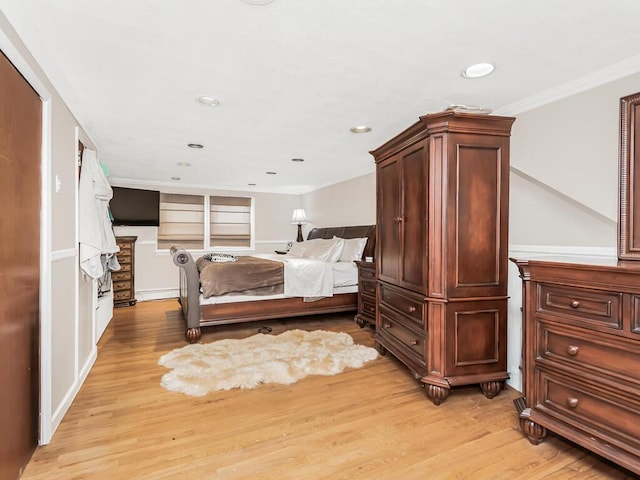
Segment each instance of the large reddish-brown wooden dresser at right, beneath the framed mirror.
M523 279L525 398L547 429L640 475L640 265L516 260Z

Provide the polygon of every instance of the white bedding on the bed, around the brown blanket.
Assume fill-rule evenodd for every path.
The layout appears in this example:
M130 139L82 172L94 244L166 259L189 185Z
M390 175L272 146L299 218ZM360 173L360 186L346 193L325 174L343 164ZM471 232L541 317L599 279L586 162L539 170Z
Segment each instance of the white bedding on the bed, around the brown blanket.
M309 300L332 297L334 293L358 291L358 269L353 262L327 263L306 258L287 258L269 253L254 254L284 263L284 293L279 295L222 295L205 299L200 304L270 300L274 298L304 297Z

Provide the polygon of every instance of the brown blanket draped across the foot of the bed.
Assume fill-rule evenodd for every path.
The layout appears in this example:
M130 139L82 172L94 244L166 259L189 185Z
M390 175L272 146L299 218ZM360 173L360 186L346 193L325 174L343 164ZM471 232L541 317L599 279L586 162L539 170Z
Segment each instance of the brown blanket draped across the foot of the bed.
M282 262L239 256L235 262L196 261L204 298L284 284Z

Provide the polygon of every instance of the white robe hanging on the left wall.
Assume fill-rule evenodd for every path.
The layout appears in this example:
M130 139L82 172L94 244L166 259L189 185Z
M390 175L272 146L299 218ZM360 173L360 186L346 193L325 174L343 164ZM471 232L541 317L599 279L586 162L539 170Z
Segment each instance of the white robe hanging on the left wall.
M101 255L111 259L111 270L119 270L116 257L120 249L109 217L109 201L113 190L105 176L96 152L85 149L78 188L80 268L91 278L104 274Z

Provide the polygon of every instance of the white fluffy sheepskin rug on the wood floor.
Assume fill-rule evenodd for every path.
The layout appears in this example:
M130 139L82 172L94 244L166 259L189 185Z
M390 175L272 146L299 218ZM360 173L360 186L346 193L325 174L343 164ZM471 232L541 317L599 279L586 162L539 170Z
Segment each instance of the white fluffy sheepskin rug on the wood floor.
M193 344L163 355L158 365L167 390L199 397L216 390L295 383L307 375L335 375L377 358L374 348L355 345L346 333L289 330L241 340Z

